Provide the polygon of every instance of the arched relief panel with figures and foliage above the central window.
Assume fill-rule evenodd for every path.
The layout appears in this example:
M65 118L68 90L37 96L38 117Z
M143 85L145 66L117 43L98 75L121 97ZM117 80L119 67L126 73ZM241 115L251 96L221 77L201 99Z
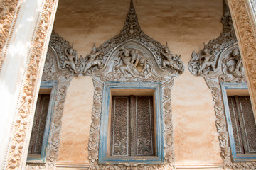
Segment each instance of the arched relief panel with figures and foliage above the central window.
M174 76L157 64L146 47L133 40L117 47L107 60L106 67L96 75L100 75L102 81L164 81L166 77Z

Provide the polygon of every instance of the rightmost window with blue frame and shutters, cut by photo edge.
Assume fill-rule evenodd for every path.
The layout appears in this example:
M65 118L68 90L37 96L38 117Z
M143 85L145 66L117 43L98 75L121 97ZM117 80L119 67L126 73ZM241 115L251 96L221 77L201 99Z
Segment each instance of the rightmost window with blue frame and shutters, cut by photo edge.
M221 83L229 146L234 162L255 161L256 124L245 83Z

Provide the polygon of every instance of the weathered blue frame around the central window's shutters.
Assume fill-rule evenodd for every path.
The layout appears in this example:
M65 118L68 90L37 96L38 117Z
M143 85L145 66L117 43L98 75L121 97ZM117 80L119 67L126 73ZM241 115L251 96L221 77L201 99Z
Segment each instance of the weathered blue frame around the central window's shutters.
M121 95L128 91L153 91L154 101L154 133L155 133L155 156L125 156L117 157L107 154L108 139L110 139L110 106L113 91L120 91ZM137 93L137 92L135 92ZM131 94L129 94L131 95ZM132 94L134 95L134 94ZM102 96L102 115L100 125L100 164L162 164L164 162L163 118L161 107L161 83L146 82L105 82Z

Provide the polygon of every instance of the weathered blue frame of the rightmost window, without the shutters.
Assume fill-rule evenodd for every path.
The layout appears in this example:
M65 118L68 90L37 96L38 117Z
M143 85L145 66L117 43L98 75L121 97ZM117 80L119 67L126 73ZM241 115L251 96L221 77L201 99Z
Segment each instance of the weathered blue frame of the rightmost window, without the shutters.
M225 109L225 117L227 120L228 125L228 135L230 139L230 147L232 152L233 161L255 161L256 160L256 153L237 153L236 147L235 147L235 137L233 132L233 122L230 115L230 106L228 103L228 92L231 93L232 96L238 95L238 94L245 94L245 91L247 91L247 84L246 83L221 83L221 91L223 95L223 103L224 103L224 109ZM242 95L245 96L245 95ZM247 95L249 96L248 92ZM254 120L254 118L252 118Z

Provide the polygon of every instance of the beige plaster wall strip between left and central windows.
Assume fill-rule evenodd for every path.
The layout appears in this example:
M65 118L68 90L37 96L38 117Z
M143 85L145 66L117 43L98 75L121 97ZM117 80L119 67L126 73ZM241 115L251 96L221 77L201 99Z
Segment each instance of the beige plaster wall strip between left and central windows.
M63 111L59 162L89 164L87 145L93 91L91 77L75 77L70 83Z

